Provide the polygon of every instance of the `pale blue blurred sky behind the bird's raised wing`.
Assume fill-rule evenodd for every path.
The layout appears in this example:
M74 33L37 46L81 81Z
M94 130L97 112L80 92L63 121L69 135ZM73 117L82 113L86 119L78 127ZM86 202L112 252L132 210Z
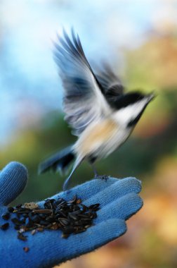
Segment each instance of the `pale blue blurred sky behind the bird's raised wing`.
M27 124L61 107L52 56L56 32L74 26L89 59L123 66L122 48L140 46L160 21L176 23L176 18L176 1L2 0L0 146L26 126L24 118Z

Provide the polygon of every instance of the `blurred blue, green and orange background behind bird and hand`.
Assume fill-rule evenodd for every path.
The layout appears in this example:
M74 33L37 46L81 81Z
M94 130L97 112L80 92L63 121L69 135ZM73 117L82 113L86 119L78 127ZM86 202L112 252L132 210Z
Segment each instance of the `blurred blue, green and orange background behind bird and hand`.
M177 267L177 1L1 0L0 169L19 161L29 170L14 204L58 192L64 177L37 166L76 138L63 121L53 41L63 27L79 33L92 63L109 61L127 90L155 90L131 138L97 164L100 174L143 182L143 209L127 233L61 268ZM74 183L93 178L89 164Z

